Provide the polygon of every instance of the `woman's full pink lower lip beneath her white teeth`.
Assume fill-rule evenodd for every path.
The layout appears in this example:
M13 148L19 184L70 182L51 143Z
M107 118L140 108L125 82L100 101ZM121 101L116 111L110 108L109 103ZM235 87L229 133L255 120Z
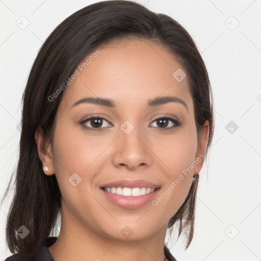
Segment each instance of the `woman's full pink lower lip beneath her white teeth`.
M154 190L153 192L141 195L137 197L133 196L121 196L117 194L113 194L111 192L107 192L103 189L100 189L109 200L111 200L115 205L127 208L129 210L134 208L139 208L147 204L148 202L152 201L155 198L155 195L158 193L160 188Z

